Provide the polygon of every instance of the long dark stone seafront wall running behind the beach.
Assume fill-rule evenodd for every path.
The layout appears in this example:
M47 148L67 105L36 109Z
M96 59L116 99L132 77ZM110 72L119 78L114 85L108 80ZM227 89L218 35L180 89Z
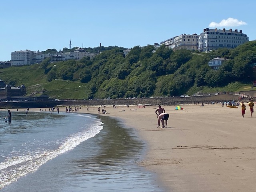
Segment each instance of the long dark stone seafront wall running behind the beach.
M0 108L51 108L56 106L113 106L113 105L182 105L241 100L233 94L194 97L138 98L138 99L104 99L104 100L64 100L64 101L28 101L0 102ZM244 98L244 100L248 100Z

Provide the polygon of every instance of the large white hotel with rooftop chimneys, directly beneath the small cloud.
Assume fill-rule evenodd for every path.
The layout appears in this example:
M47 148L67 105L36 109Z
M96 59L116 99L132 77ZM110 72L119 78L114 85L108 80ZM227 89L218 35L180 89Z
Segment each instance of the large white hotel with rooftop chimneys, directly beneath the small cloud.
M198 50L209 51L218 48L236 48L240 44L248 42L249 38L242 30L204 29L198 39Z

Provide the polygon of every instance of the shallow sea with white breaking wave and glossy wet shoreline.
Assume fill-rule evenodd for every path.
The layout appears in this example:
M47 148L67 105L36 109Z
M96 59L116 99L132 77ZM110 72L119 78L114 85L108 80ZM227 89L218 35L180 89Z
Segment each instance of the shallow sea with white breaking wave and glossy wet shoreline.
M163 192L139 166L146 144L121 121L81 113L0 111L1 192ZM2 120L1 120L2 119Z

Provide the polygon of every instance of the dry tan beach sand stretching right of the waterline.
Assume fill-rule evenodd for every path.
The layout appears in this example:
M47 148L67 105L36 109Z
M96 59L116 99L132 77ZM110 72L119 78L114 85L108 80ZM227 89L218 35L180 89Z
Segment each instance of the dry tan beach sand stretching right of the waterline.
M159 185L170 192L256 190L256 116L250 117L247 104L244 118L240 106L162 107L170 114L167 128L157 128L156 106L107 106L108 114L100 115L118 118L134 128L148 146L138 164L156 173ZM88 111L81 106L79 112L98 114L98 106L89 106Z

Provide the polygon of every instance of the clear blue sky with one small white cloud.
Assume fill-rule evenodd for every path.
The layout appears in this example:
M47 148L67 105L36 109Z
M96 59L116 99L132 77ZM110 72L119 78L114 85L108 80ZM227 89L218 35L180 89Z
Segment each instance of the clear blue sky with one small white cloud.
M238 29L256 39L256 1L5 0L0 5L0 61L11 52L73 47L133 48L204 28Z

